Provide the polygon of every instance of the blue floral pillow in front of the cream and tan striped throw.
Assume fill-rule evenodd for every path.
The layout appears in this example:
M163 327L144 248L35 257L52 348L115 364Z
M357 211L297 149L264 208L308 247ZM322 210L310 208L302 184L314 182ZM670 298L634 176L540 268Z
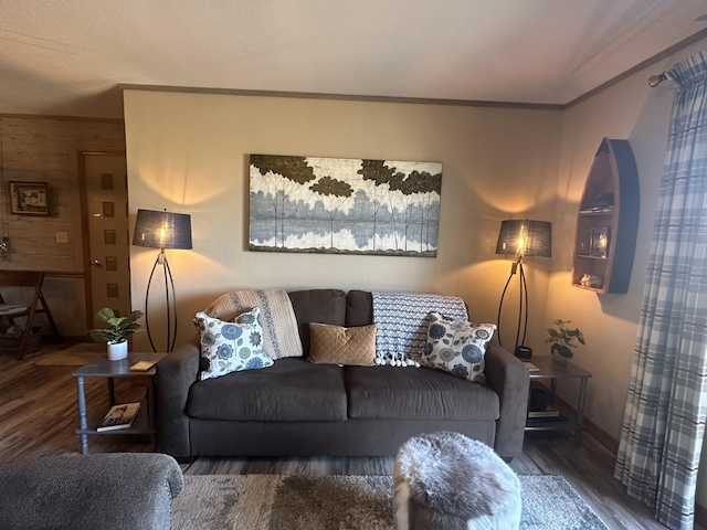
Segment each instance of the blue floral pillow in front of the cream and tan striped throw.
M263 350L260 308L239 315L233 322L198 312L194 325L201 335L200 381L273 365L273 360Z

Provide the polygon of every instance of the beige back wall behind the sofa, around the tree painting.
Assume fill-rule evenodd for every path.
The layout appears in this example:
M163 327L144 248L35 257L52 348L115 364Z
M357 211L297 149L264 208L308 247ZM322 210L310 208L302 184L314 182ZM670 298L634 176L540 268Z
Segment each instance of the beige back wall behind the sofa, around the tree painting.
M551 218L560 119L553 110L127 91L130 210L192 216L193 251L168 251L181 339L194 332L194 311L236 288L436 292L462 296L473 318L493 322L510 266L494 254L499 223ZM437 257L249 252L250 153L442 162ZM134 307L155 255L131 248ZM538 307L549 266L529 265ZM542 320L534 312L531 328Z

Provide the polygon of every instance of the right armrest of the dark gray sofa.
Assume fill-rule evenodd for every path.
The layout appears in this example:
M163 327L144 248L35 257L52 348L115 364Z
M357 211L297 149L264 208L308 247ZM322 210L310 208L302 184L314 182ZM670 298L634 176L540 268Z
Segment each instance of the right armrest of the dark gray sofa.
M486 382L498 393L500 417L496 422L495 449L505 458L520 456L528 414L528 369L498 342L486 348Z

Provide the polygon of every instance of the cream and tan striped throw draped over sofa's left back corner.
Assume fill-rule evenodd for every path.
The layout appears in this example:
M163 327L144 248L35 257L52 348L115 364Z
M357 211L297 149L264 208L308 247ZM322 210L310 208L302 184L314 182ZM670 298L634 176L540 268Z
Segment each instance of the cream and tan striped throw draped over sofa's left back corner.
M203 312L231 321L254 307L261 310L263 349L273 359L302 357L302 341L297 319L287 293L273 290L234 290L221 295Z

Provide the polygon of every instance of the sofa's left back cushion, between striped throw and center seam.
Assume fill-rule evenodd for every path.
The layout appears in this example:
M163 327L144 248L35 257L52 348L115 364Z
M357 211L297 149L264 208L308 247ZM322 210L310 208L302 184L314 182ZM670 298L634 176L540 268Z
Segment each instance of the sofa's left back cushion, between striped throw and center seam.
M288 293L297 317L305 357L309 353L309 322L346 325L346 293L339 289L307 289Z

